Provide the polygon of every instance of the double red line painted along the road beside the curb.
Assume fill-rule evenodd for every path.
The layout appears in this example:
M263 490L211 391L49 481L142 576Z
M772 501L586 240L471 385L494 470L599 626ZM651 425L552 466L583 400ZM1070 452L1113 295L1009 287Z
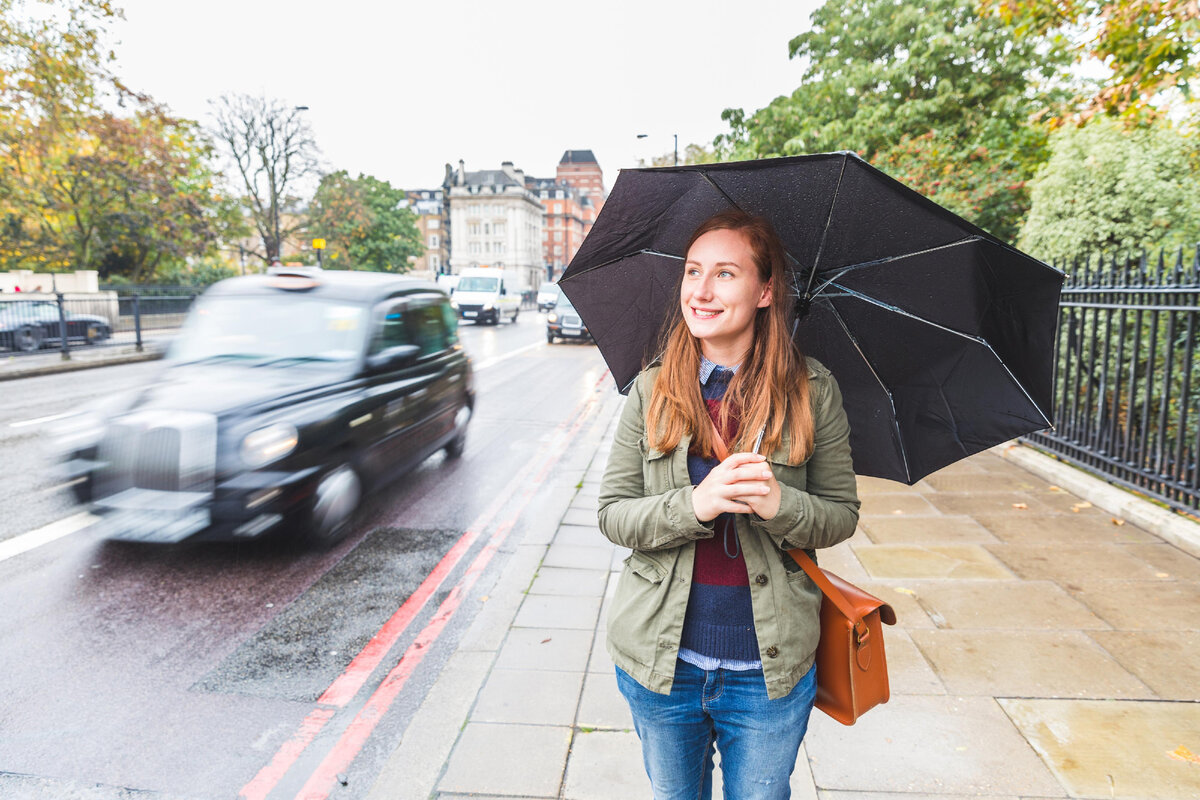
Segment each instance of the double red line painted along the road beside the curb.
M499 525L499 528L497 528L496 534L493 534L492 536L492 541L488 542L488 545L484 548L484 551L480 552L479 557L476 557L475 561L472 563L470 567L468 567L467 572L463 575L462 581L460 581L460 583L454 589L451 589L445 601L443 601L442 606L438 607L438 613L434 615L433 620L413 642L408 651L406 651L406 655L401 657L400 663L397 663L396 667L388 673L388 676L384 679L383 684L376 690L376 692L367 700L367 706L359 712L359 715L355 717L355 721L350 723L350 728L348 728L347 732L343 733L342 739L340 739L337 745L335 745L334 751L330 752L330 754L325 758L324 762L322 762L322 765L318 766L317 771L312 775L312 777L310 777L310 780L305 783L305 788L301 790L301 795L304 795L305 792L308 792L311 786L314 786L314 783L318 780L318 776L323 776L322 777L323 782L328 784L326 788L324 789L324 794L316 794L312 796L319 796L319 798L329 796L329 787L332 786L334 781L336 781L337 770L334 770L332 772L329 772L328 776L324 776L325 772L324 766L334 760L337 760L340 763L343 758L346 759L346 764L348 765L358 756L359 751L361 751L362 745L366 742L367 736L370 736L376 724L378 724L379 720L383 717L383 712L386 711L388 706L391 705L396 694L400 692L400 688L403 687L404 682L407 682L408 675L412 674L412 670L415 669L416 664L420 663L427 646L437 639L437 636L440 634L442 628L444 628L445 624L450 620L451 616L454 616L455 610L457 610L458 608L458 603L461 603L462 594L472 585L474 585L475 581L479 577L478 575L479 571L481 571L484 566L486 566L486 564L491 560L492 555L494 555L496 553L496 549L499 547L499 542L502 542L503 539L508 536L509 531L512 529L512 525L516 523L517 517L520 517L520 515L524 511L526 505L528 505L529 500L533 498L534 487L536 487L536 485L541 482L541 480L550 471L550 468L562 457L563 450L565 450L565 444L570 441L570 438L575 435L575 433L583 425L583 420L587 419L587 416L590 413L590 409L596 404L596 399L594 396L595 389L604 383L607 375L608 372L605 371L604 374L600 375L600 379L596 381L595 386L593 387L593 397L583 401L580 404L580 407L576 407L576 410L572 410L572 416L568 417L569 420L574 417L574 422L570 423L570 429L566 432L563 441L560 441L559 445L552 447L547 458L542 462L541 469L534 477L533 486L526 489L526 492L521 495L521 500L516 512L512 515L510 519L505 521L503 524ZM558 427L559 429L563 429L568 425L569 425L568 422L563 422ZM379 662L388 654L388 651L396 643L396 640L403 634L404 630L413 621L416 614L420 613L421 608L425 607L425 603L428 602L430 597L432 597L433 594L442 587L442 583L445 581L446 576L449 576L449 573L454 571L454 567L457 566L458 561L467 553L467 551L470 549L470 546L484 531L484 529L487 527L491 519L499 512L499 510L509 500L512 492L516 489L517 486L520 486L521 481L526 480L528 473L534 469L535 464L536 462L533 461L528 462L522 469L517 471L516 475L512 476L512 480L509 481L508 485L505 485L504 489L500 491L500 493L497 495L497 499L492 503L492 505L488 506L487 510L485 510L484 513L480 515L475 519L475 522L473 522L467 528L467 530L458 539L458 541L455 542L455 545L442 558L438 565L433 567L433 571L431 571L430 575L426 576L425 581L421 582L421 585L416 588L416 591L414 591L409 596L409 599L404 601L404 603L400 607L400 609L397 609L397 612L392 614L392 616L386 622L384 622L383 627L379 628L379 631L371 638L370 642L367 642L367 644L362 648L362 650L359 651L359 654L354 657L354 660L350 661L350 663L346 667L342 674L338 675L337 679L335 679L334 682L330 684L330 686L322 693L322 696L317 699L317 702L320 703L323 708L313 709L308 714L308 716L305 717L304 722L300 723L300 728L296 730L296 733L293 734L293 736L289 740L283 742L283 745L275 753L275 757L270 760L270 763L266 764L262 770L259 770L258 775L256 775L250 781L250 783L242 787L241 792L238 793L239 798L245 798L245 800L265 800L265 798L275 789L278 782L283 780L283 776L287 774L287 771L292 769L293 764L295 764L296 759L300 758L300 754L308 747L308 745L312 744L317 734L320 733L320 730L325 727L325 723L332 718L336 710L343 708L346 703L348 703L359 692L359 690L362 687L364 682L366 682L367 678L371 675L374 668L379 664ZM452 604L448 606L448 603L451 603L451 601L454 601ZM443 613L445 614L444 619L443 619ZM440 624L438 624L439 619L442 619ZM431 636L431 638L428 638L427 640L425 640L426 633ZM406 658L408 658L408 654L413 652L414 648L418 648L418 644L422 642L424 644L420 644L419 648L420 657L416 657L415 660L409 660L412 662L412 666L406 668L403 675L400 676L398 682L396 682L392 675L397 674L401 670L401 667L404 664ZM367 711L367 709L376 703L377 697L380 696L380 692L383 692L384 686L390 686L392 684L395 684L395 692L391 693L390 697L388 697L386 693L384 694L384 697L386 697L386 702L383 703L382 706L377 705L377 708L379 709L378 715L373 716L368 727L361 728L360 726L359 730L361 733L361 741L356 741L356 744L348 741L350 733L356 729L355 723L359 722L359 718L362 717L362 715ZM358 735L355 735L354 739L356 740Z

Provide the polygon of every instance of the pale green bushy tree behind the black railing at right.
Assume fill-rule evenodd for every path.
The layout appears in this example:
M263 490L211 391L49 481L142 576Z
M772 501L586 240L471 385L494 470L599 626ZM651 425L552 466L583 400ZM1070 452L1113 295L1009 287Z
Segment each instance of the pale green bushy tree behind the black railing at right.
M1051 139L1019 246L1043 260L1200 241L1200 143L1165 119L1097 116Z

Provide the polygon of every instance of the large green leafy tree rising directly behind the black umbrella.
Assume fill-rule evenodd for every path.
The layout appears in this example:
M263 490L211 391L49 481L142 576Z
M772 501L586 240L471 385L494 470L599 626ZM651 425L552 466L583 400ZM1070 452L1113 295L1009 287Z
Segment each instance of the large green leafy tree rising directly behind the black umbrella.
M790 96L727 109L722 158L853 150L1001 237L1027 207L1025 181L1045 156L1031 122L1068 94L1066 54L1014 38L974 0L827 0L790 42L805 59Z

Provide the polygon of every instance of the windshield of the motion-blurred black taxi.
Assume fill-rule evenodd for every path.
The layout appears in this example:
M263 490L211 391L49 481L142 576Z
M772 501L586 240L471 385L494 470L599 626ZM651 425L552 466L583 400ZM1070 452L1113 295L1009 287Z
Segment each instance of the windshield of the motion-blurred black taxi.
M200 297L170 347L174 363L346 369L358 362L367 309L304 295Z

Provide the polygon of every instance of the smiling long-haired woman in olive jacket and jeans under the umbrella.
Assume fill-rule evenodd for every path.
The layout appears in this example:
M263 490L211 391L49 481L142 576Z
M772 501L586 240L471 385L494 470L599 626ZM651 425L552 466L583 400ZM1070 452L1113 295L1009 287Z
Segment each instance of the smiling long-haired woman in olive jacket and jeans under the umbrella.
M726 798L790 796L821 593L782 551L850 537L859 505L838 384L792 313L770 223L706 221L613 440L600 529L634 552L608 652L656 800L710 798L714 745Z

